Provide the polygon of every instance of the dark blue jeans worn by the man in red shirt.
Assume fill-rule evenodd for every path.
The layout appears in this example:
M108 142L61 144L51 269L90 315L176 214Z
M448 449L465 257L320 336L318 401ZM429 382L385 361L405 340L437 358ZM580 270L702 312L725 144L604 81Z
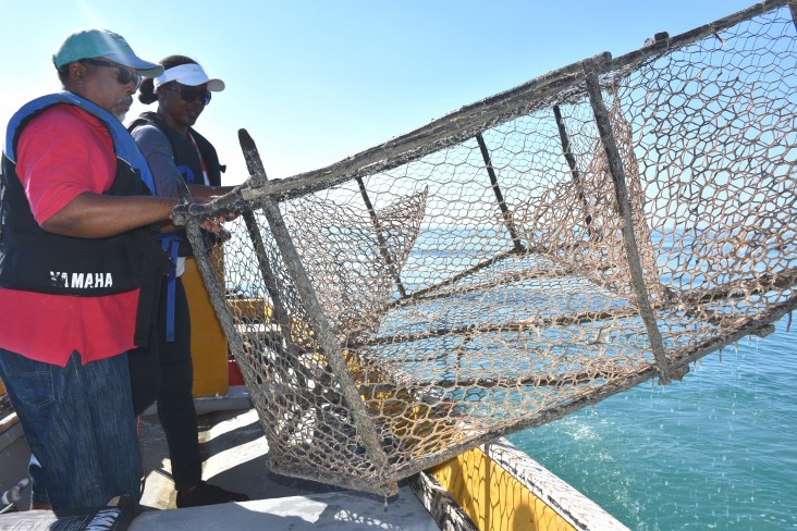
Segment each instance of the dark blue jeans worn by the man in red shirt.
M30 450L34 502L53 510L140 498L143 474L127 355L66 367L0 348L5 384Z

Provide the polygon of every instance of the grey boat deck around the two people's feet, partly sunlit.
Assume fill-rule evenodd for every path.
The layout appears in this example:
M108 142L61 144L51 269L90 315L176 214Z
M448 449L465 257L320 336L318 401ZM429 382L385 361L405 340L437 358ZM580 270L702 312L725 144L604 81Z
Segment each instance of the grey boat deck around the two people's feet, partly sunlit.
M407 485L385 501L270 472L268 444L245 392L236 397L232 390L224 398L198 399L197 408L203 479L244 492L252 501L177 509L165 436L150 410L139 425L147 474L143 511L131 523L131 531L439 529ZM4 527L21 523L23 517L30 527ZM14 513L0 516L0 530L49 529L48 521L53 519L50 511Z

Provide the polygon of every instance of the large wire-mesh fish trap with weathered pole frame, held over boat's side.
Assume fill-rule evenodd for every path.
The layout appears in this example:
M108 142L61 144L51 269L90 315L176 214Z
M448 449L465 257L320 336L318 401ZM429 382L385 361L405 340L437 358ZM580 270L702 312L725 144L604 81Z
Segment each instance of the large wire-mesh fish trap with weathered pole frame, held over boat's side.
M210 205L198 264L279 473L403 478L658 378L797 306L784 1L571 64Z

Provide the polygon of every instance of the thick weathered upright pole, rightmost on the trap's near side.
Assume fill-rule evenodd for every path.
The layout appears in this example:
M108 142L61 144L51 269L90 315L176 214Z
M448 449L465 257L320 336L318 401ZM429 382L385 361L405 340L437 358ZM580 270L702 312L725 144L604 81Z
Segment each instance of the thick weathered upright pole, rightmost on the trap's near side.
M630 272L630 284L635 292L637 306L639 307L639 316L645 322L648 331L648 341L655 358L655 365L659 370L661 383L670 383L670 362L664 350L664 342L662 341L661 331L655 320L655 313L648 297L648 288L645 285L642 275L642 266L639 258L639 247L637 246L636 235L634 234L634 220L632 215L632 203L628 198L628 187L626 185L625 170L623 169L623 159L620 156L617 143L614 139L612 124L609 118L609 110L603 102L603 95L598 82L598 74L592 67L591 62L585 61L586 69L586 86L589 94L589 102L592 106L598 133L603 144L603 149L609 162L609 173L614 182L615 198L617 200L617 210L622 219L623 225L623 244L625 246L626 259L628 260L628 270Z

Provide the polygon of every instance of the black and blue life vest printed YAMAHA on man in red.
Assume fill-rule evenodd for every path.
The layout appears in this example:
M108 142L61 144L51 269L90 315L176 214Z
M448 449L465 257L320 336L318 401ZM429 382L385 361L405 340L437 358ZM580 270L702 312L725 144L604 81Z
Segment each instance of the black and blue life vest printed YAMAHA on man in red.
M76 238L44 231L34 219L16 174L16 145L28 122L57 104L97 116L113 139L115 196L152 195L155 183L144 155L110 112L72 92L57 92L23 106L9 122L0 178L0 286L10 289L98 297L140 288L136 344L147 343L160 280L173 267L156 243L157 226L106 238ZM157 284L157 285L156 285Z

